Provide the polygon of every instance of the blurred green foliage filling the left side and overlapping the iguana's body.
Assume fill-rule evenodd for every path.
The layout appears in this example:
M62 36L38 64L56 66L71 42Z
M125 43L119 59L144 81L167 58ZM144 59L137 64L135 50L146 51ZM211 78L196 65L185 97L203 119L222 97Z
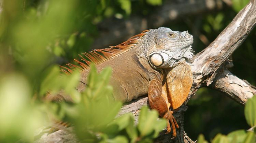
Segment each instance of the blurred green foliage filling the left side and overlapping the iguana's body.
M114 120L121 103L111 98L111 69L98 75L93 66L89 87L79 93L80 72L61 75L56 65L86 51L102 19L130 13L130 0L1 0L0 142L33 142L35 130L52 119L73 124L82 142L152 142L166 121L146 107L138 126L131 114ZM74 104L42 100L60 90Z

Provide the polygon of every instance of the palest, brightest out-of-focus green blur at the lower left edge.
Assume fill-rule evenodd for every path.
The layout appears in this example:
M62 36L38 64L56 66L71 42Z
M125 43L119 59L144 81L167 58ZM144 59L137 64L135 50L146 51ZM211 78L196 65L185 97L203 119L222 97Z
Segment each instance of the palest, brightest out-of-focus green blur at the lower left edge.
M0 142L22 139L32 142L34 131L46 118L38 107L31 105L31 87L21 74L10 73L0 80Z

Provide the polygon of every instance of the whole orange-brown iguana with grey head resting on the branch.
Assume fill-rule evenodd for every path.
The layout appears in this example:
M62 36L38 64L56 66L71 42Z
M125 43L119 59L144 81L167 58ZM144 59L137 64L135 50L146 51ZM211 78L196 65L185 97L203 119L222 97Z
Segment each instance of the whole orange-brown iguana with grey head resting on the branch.
M77 87L79 92L87 86L91 62L98 71L110 66L113 70L110 84L113 97L121 102L129 102L148 94L151 108L167 119L167 132L179 128L173 117L173 111L186 100L192 86L193 76L189 61L191 60L193 36L188 32L172 31L160 27L135 35L114 47L94 49L83 53L87 59L76 60L80 66L68 63L62 71L69 74L74 68L80 68L81 78ZM64 93L57 95L62 100ZM172 125L172 129L170 126Z

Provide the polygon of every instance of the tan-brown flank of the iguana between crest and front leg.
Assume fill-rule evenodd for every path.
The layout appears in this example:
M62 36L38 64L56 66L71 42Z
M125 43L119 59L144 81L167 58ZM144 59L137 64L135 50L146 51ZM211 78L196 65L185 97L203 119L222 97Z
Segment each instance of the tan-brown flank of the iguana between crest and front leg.
M154 69L146 60L139 59L136 51L136 48L131 49L123 55L96 65L98 71L102 71L105 67L112 68L110 85L113 86L115 100L129 102L148 93L149 75ZM89 69L82 72L82 82L78 86L79 91L84 90L84 83L87 84L88 74Z

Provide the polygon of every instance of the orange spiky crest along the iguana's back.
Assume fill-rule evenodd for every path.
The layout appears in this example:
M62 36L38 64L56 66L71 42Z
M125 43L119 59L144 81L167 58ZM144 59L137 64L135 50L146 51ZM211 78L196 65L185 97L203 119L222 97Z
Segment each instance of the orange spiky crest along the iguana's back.
M81 57L81 61L74 59L74 61L76 63L78 63L79 65L75 65L75 64L71 64L71 63L67 63L66 65L68 67L64 67L64 66L60 66L61 67L61 71L63 71L65 74L70 74L72 73L74 68L79 68L82 71L84 71L85 69L88 69L90 66L90 63L93 62L94 64L101 64L104 61L107 61L109 59L112 59L114 57L117 57L127 51L129 51L130 49L132 49L136 43L138 43L139 39L141 37L143 37L149 30L145 30L142 33L132 36L131 38L129 38L127 41L118 44L116 46L110 46L110 48L105 48L105 49L93 49L92 51L84 52L82 53L82 55L84 55L85 57L87 57L87 59L85 59L82 55L79 54L79 56Z

